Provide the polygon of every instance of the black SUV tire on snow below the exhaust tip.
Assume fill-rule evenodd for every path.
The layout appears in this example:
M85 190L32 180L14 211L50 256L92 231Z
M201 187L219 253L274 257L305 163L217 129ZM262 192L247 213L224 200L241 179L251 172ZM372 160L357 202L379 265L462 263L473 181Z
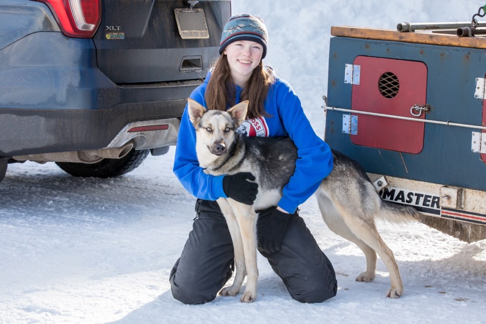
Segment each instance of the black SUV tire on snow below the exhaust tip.
M111 178L121 176L142 164L150 150L132 149L122 158L104 158L93 164L56 162L56 164L75 177Z

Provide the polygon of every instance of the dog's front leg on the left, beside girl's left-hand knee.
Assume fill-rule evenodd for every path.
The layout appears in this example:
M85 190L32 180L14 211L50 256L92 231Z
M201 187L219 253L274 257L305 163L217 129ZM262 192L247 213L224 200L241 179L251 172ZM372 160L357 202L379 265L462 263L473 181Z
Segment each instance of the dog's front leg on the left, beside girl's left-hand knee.
M223 288L219 294L222 296L236 296L238 295L243 284L243 280L247 275L243 242L241 240L239 225L236 221L231 206L228 204L226 199L218 199L218 205L221 208L224 218L226 219L226 223L228 224L231 240L233 241L234 263L236 265L236 273L233 284L229 287Z

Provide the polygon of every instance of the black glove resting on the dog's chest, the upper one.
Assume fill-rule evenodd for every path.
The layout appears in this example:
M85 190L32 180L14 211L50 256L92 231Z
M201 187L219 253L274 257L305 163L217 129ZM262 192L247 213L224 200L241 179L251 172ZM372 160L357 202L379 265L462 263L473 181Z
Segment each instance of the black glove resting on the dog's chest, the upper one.
M258 183L248 180L255 180L255 176L250 172L240 172L231 176L224 176L223 190L226 195L238 201L238 203L253 205L253 200L257 198Z

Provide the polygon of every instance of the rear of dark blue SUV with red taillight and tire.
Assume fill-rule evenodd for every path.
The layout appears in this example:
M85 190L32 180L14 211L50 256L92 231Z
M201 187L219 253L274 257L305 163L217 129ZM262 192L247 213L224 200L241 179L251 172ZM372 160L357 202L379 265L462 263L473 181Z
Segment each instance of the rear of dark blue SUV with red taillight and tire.
M25 160L104 178L167 152L230 12L213 0L3 0L0 181Z

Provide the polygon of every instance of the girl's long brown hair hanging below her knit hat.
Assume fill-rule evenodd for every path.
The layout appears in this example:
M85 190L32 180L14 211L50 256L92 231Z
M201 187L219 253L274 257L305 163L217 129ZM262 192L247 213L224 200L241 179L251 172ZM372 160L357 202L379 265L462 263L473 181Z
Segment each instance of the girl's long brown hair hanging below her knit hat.
M253 70L248 86L241 91L240 100L249 100L247 118L258 116L269 117L265 111L264 103L270 86L275 82L275 75L271 69L263 67L263 62ZM205 99L209 110L226 110L232 107L236 100L236 86L231 79L231 71L225 54L221 54L214 64Z

